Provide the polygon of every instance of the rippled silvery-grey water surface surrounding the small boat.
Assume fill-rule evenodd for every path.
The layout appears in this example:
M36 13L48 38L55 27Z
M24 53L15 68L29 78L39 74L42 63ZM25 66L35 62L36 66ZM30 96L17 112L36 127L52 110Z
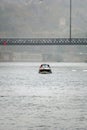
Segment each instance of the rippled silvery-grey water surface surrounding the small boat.
M39 65L0 64L0 130L87 130L86 64Z

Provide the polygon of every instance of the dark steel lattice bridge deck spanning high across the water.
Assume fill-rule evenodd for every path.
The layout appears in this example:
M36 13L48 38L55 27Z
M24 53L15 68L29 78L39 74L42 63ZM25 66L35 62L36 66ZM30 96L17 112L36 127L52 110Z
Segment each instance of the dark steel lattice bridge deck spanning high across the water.
M0 38L0 45L87 45L87 38Z

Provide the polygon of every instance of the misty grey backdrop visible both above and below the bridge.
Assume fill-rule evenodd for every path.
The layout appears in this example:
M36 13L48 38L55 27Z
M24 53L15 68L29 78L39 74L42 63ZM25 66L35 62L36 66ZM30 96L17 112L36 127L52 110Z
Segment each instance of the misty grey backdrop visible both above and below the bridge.
M87 0L72 0L72 38L87 37ZM0 0L1 38L69 38L70 0ZM0 46L0 61L87 62L87 46Z

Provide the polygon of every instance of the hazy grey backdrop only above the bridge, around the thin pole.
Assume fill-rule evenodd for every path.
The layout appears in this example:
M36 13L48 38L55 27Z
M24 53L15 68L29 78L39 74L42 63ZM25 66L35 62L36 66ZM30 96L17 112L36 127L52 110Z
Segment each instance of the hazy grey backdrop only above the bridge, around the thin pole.
M69 37L70 0L0 0L0 37ZM87 37L87 0L72 0L72 37Z

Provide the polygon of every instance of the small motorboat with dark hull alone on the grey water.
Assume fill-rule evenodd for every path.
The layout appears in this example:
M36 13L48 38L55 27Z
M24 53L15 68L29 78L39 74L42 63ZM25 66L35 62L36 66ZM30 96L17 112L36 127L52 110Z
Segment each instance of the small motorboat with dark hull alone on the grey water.
M49 64L41 64L39 67L39 73L40 74L51 74L51 67Z

